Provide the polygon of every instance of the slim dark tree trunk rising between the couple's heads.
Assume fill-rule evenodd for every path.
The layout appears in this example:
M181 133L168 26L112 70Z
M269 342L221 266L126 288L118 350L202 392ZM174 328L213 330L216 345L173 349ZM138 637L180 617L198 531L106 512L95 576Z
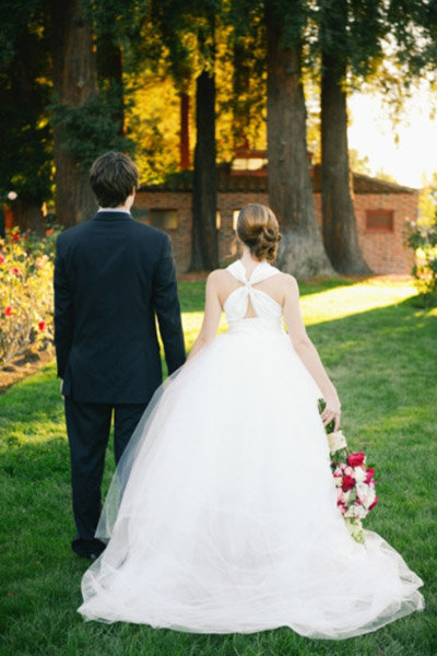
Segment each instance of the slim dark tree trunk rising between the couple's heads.
M190 271L216 269L215 79L203 71L196 80L194 176Z

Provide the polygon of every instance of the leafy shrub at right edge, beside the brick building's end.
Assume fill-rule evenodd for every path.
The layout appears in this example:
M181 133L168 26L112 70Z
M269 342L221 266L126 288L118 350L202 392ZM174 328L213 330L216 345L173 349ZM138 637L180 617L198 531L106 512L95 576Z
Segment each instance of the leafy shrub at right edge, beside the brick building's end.
M412 273L422 305L437 305L437 212L429 226L406 223L406 245L415 251Z

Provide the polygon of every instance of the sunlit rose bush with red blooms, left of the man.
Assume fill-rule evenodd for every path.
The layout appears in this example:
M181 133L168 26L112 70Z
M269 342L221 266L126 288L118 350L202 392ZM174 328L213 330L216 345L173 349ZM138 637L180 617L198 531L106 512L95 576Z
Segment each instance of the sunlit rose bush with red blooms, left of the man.
M36 352L52 342L58 232L50 229L39 238L14 227L0 239L0 367L28 349Z

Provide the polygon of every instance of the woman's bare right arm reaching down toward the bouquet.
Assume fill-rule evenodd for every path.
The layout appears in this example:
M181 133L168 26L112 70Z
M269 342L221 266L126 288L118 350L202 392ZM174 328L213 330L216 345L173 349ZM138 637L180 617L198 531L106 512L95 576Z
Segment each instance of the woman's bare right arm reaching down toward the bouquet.
M285 274L284 274L285 277ZM340 399L335 387L328 377L316 347L309 339L302 318L299 306L299 289L292 276L286 276L284 293L284 320L290 338L296 353L305 364L306 368L316 380L326 401L326 408L321 414L323 424L327 425L335 419L335 431L340 426Z

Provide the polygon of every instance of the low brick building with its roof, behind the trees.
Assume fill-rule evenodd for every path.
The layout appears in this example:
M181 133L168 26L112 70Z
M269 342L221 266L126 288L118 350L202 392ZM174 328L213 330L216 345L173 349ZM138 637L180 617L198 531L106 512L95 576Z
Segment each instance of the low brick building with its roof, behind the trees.
M217 168L218 254L228 261L238 211L249 202L268 204L265 161L223 164ZM253 169L250 169L253 167ZM316 215L321 224L320 166L311 169ZM375 273L410 273L413 256L403 246L406 218L415 220L417 190L353 175L354 207L359 244ZM164 185L140 187L134 211L139 221L164 230L172 237L178 272L187 271L191 254L191 184L180 179L172 188Z

